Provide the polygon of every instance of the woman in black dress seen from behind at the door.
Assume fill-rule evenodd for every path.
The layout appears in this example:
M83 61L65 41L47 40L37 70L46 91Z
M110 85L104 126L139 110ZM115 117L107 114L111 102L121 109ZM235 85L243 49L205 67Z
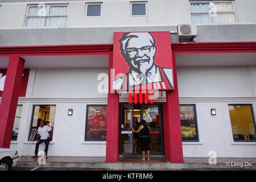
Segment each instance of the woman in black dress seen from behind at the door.
M150 160L150 127L147 126L147 123L144 119L141 121L141 126L138 130L132 129L134 133L139 133L141 135L141 150L143 154L142 160L145 160L145 154L147 152L147 160Z

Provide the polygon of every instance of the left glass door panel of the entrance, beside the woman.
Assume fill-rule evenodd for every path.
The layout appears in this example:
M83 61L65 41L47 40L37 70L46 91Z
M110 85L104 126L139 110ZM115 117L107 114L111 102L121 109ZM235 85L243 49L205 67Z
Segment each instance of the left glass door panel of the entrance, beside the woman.
M133 104L121 106L121 154L133 155Z

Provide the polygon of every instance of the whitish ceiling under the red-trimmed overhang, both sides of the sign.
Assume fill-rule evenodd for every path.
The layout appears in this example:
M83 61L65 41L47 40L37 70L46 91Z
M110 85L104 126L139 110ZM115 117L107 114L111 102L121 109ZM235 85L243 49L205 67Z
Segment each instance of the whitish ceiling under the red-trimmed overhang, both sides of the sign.
M108 55L22 56L25 68L108 68ZM0 56L0 69L9 57ZM256 65L256 53L177 53L177 67L236 67Z

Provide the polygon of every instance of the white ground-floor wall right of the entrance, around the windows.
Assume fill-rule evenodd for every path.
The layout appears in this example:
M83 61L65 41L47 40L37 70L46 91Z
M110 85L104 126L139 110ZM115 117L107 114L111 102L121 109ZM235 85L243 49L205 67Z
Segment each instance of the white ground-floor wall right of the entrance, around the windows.
M252 104L255 66L179 67L180 104L195 104L199 142L183 142L184 157L255 158L256 142L234 142L228 104ZM216 115L210 109L216 109Z

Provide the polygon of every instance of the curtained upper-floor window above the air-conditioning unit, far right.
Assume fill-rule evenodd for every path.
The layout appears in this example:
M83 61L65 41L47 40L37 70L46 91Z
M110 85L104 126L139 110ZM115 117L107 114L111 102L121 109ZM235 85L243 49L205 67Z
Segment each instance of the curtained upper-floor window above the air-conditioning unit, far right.
M192 23L236 23L233 1L191 2Z

